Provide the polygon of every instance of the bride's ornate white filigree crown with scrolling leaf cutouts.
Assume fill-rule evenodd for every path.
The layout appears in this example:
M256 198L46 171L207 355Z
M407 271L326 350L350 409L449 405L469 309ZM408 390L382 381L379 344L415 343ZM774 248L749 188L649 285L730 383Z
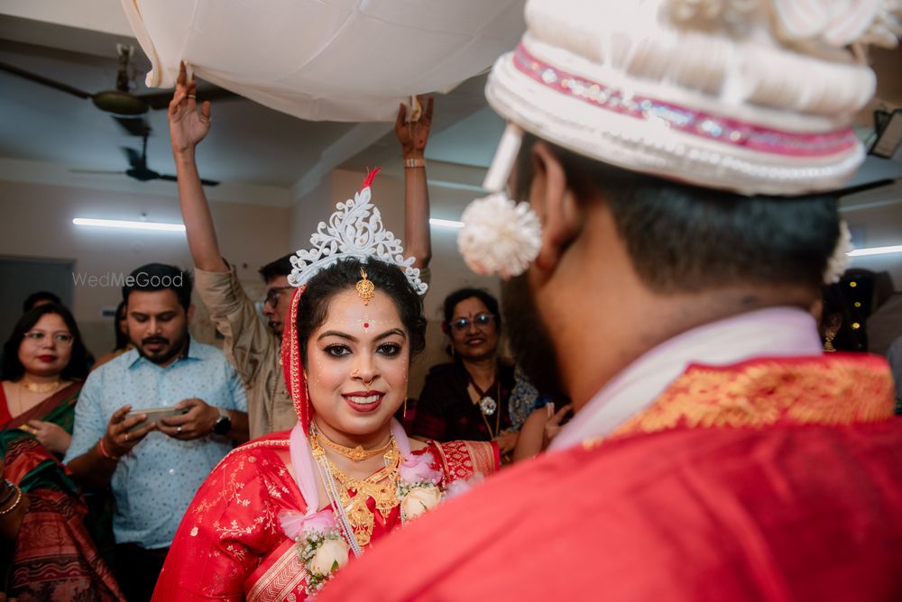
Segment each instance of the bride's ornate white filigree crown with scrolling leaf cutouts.
M336 205L336 212L329 217L328 224L319 223L317 232L310 235L313 248L297 251L291 256L294 269L288 281L292 287L307 284L319 270L339 260L354 258L365 263L373 258L398 266L410 286L419 295L426 294L428 285L419 279L419 269L412 267L416 258L404 259L400 239L382 225L379 208L370 202L370 198L370 187L365 186L354 194L354 198Z

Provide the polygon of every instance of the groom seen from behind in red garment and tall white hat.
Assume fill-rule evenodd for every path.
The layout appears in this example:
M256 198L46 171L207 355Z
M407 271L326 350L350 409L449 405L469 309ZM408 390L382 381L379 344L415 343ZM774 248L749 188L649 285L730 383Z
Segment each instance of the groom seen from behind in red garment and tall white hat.
M822 355L807 312L845 256L824 193L862 157L872 76L842 47L886 15L762 4L529 2L486 187L510 172L538 215L506 319L575 417L323 602L902 599L892 379Z

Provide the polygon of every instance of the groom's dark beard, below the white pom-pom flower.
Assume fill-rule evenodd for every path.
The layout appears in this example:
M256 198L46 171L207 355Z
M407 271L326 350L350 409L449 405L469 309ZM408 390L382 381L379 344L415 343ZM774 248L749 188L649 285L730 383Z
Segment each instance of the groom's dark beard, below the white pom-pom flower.
M514 359L540 393L555 401L566 400L554 343L538 313L526 274L502 283L502 299Z

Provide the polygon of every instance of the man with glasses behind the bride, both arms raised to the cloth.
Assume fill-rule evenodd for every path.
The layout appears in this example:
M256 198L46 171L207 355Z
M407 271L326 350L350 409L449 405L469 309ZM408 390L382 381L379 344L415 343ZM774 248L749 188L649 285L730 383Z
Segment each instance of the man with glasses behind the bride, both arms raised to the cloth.
M195 148L210 128L210 105L198 107L195 82L179 72L178 86L169 108L170 138L176 173L179 176L179 203L195 265L198 294L216 329L225 336L223 351L244 379L251 438L285 431L298 422L298 415L281 369L281 335L291 304L290 253L260 269L266 282L262 324L253 300L244 292L235 266L223 259L216 241L216 229L207 197L200 183ZM199 108L199 111L198 111ZM395 132L404 153L405 242L417 258L415 268L428 281L431 255L426 161L423 153L432 121L432 100L419 121L408 122L401 107Z

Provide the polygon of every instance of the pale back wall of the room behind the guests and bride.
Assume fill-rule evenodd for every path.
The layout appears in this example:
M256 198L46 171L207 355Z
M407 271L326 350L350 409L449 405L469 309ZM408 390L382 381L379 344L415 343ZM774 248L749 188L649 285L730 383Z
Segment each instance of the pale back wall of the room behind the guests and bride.
M399 237L404 233L401 171L388 170L373 183L373 200L383 221ZM287 252L308 248L310 234L318 222L327 220L336 203L353 196L363 178L363 173L336 169L290 208L211 203L219 246L226 259L237 266L245 290L262 298L257 269ZM434 205L442 202L441 217L454 219L476 193L430 187L430 196ZM74 260L78 272L97 276L128 273L152 261L191 268L188 242L182 233L107 231L72 224L73 217L136 220L141 219L142 213L149 221L181 221L174 196L0 180L0 254ZM428 368L447 360L446 339L439 326L445 296L465 286L485 287L498 294L496 278L477 277L466 269L457 252L456 231L433 228L432 246L432 285L424 298L429 324L427 350L411 374L411 397L419 396ZM100 311L118 304L119 289L77 286L74 295L72 310L88 348L97 356L106 353L113 345L112 324L100 316ZM205 342L213 342L207 312L197 296L195 305L192 332Z

